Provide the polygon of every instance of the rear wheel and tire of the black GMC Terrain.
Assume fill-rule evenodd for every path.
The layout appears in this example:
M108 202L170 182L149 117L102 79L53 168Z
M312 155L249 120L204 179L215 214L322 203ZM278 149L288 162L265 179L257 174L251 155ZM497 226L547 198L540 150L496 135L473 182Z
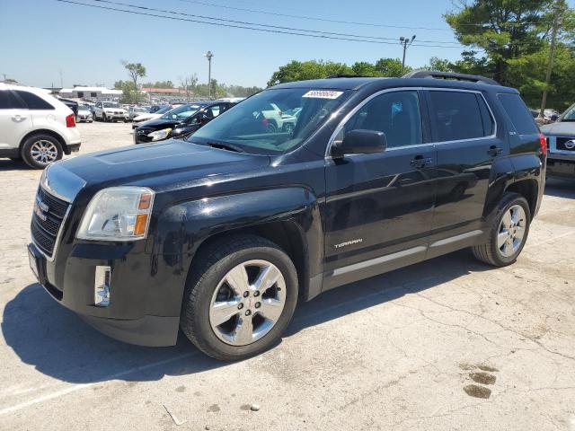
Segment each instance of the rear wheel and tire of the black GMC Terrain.
M517 224L515 224L514 230L513 227L508 228L506 226L506 224L509 224L509 218L506 218L506 222L503 220L503 217L510 216L510 221L513 223L513 216L511 215L516 209L519 216L521 216L521 210L523 211L523 221L521 222L521 220L519 220ZM529 235L530 224L531 211L529 210L529 204L527 204L526 198L523 198L517 193L505 193L501 199L497 214L493 218L493 224L491 225L487 242L473 246L473 256L494 267L505 267L514 263L525 246L527 236ZM522 236L520 233L522 233ZM511 236L509 237L509 235ZM521 238L516 244L517 236L521 236ZM506 238L509 241L502 242L502 240ZM501 245L501 243L503 243L503 245Z

